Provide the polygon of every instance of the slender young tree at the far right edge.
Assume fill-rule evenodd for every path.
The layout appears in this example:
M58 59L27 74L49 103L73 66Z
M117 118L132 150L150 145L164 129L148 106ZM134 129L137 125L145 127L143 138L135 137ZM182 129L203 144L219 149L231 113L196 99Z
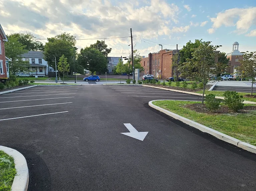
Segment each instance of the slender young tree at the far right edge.
M239 70L242 70L242 77L252 78L252 88L253 81L255 81L256 77L256 51L255 52L242 52L243 60L240 60L241 66L238 67ZM251 96L252 96L252 88L251 88Z

